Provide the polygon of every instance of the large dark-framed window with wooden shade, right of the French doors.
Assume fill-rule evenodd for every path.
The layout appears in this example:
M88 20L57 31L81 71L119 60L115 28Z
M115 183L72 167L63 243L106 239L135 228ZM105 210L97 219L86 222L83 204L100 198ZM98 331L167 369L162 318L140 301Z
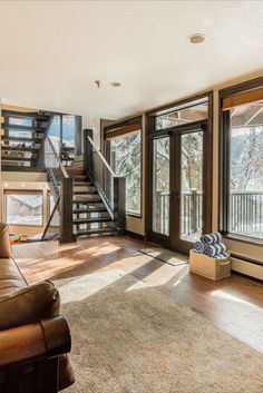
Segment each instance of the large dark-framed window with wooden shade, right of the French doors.
M263 243L263 78L220 91L220 227Z

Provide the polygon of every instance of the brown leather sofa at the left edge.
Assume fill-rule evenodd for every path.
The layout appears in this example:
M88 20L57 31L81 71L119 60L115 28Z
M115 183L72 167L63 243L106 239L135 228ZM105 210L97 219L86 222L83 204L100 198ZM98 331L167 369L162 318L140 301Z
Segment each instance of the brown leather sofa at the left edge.
M0 393L57 393L74 383L59 305L52 283L27 284L12 258L9 228L0 224Z

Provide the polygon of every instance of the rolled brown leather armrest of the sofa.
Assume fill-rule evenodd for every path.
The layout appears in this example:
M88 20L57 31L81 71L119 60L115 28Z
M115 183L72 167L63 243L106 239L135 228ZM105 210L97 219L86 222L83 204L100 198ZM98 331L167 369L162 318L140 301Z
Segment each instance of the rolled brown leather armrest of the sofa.
M0 369L70 352L69 327L62 316L0 332Z

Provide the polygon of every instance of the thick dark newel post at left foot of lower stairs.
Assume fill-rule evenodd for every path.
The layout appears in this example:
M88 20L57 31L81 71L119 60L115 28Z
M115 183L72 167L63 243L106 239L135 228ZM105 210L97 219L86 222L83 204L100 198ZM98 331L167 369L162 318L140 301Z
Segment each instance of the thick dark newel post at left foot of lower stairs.
M61 243L74 242L74 223L72 223L72 206L74 206L74 183L71 177L60 179L60 227L59 240Z

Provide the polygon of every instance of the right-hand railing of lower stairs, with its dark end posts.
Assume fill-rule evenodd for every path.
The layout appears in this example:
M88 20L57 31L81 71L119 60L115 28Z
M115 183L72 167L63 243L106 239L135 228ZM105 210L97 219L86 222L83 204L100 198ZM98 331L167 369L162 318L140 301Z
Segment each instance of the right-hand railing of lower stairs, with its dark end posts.
M125 177L117 176L92 139L84 130L84 164L119 233L125 230Z

